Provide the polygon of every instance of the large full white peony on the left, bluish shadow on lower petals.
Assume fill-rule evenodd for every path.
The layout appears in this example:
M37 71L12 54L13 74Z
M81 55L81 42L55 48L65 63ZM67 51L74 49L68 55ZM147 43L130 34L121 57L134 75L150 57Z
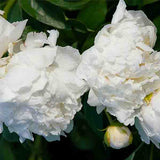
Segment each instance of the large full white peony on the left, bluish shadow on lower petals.
M78 50L56 46L58 32L49 33L29 33L24 44L10 46L13 56L1 59L1 131L5 123L21 142L33 140L32 133L53 141L69 132L87 89L76 75Z

